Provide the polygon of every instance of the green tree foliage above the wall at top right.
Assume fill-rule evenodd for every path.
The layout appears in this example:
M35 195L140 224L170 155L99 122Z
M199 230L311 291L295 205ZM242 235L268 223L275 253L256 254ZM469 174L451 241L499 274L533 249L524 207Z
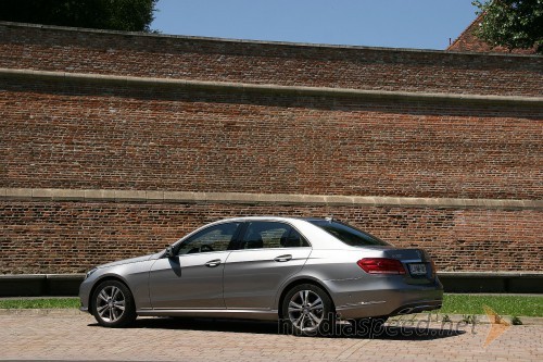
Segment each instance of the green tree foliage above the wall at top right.
M476 0L482 21L477 36L491 46L543 53L543 0Z

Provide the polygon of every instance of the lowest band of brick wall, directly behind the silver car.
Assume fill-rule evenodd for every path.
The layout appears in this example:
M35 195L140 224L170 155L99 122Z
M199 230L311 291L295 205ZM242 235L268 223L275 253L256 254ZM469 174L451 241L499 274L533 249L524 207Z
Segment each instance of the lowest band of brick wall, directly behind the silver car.
M4 202L0 273L83 273L153 253L185 233L239 215L329 216L397 247L422 247L440 271L541 271L541 211Z

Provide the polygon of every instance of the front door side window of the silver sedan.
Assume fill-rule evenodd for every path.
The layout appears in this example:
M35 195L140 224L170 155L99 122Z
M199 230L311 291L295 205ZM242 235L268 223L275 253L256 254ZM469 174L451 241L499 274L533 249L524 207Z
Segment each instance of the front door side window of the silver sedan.
M177 254L228 250L239 225L239 223L226 223L210 226L182 241Z

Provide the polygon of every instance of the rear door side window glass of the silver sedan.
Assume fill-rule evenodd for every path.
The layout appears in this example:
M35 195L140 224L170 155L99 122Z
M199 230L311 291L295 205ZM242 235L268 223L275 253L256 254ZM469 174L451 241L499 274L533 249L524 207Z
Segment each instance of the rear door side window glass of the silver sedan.
M276 222L249 223L241 249L300 248L310 244L292 226Z

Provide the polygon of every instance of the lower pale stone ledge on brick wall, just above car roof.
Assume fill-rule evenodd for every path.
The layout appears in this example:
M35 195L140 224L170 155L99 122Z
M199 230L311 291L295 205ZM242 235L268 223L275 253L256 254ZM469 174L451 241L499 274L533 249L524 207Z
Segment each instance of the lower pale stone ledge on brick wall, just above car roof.
M401 198L341 195L192 192L146 190L78 190L53 188L0 188L0 200L100 201L149 203L273 203L431 209L543 210L543 200L490 200L451 198Z

